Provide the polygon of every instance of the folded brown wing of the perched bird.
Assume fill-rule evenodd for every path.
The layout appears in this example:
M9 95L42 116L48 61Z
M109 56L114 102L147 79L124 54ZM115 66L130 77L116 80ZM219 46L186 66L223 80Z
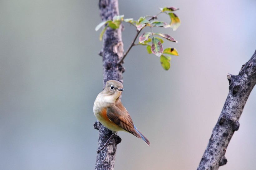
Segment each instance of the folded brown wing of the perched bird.
M123 128L127 132L130 132L136 137L141 138L140 134L134 128L133 122L128 111L122 105L121 102L108 107L107 116L116 125L119 125L121 128Z

